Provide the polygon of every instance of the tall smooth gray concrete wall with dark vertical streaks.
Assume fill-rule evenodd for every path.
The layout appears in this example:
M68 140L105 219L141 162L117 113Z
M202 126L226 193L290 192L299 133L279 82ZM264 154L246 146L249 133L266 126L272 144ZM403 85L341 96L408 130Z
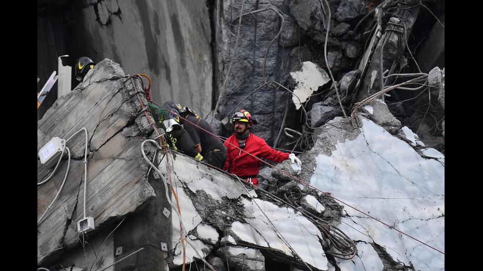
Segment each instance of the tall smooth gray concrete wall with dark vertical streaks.
M72 20L80 50L98 62L119 63L126 74L151 78L153 101L173 100L200 116L211 111L211 30L205 0L75 1ZM145 86L149 82L146 79Z

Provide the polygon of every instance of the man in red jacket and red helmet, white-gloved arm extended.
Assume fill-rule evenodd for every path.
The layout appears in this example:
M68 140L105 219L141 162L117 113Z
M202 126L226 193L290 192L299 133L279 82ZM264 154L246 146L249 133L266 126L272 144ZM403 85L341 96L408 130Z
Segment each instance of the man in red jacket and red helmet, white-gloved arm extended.
M263 138L250 132L251 126L258 123L248 111L235 112L232 121L235 133L225 141L228 151L224 171L258 186L257 176L262 165L260 158L277 163L290 159L292 163L297 162L301 166L302 162L295 154L272 149Z

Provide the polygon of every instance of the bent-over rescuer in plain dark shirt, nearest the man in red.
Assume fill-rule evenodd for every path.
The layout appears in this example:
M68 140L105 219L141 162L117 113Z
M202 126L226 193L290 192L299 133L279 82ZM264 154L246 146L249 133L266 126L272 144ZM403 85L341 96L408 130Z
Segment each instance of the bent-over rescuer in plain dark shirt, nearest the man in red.
M226 160L226 147L223 141L214 134L209 123L188 107L183 107L172 101L166 102L166 104L178 109L181 116L180 123L191 136L195 149L203 155L203 162L223 169Z

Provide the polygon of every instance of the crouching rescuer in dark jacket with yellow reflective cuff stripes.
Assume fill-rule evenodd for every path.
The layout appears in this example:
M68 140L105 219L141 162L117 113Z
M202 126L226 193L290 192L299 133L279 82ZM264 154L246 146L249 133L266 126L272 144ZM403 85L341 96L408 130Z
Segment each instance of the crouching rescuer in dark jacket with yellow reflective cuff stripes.
M180 113L176 107L165 103L163 108L166 112L161 114L162 127L168 136L168 145L174 151L180 151L198 161L203 160L203 155L196 150L193 140L188 132L180 124Z

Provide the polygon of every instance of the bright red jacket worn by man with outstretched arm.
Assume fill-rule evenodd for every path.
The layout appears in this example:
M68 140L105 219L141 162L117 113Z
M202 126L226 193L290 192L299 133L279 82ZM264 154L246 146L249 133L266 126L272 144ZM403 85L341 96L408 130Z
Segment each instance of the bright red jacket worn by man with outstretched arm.
M280 163L281 161L287 160L288 155L290 154L272 149L263 138L252 133L250 133L248 138L245 140L245 147L243 149L239 149L236 134L231 135L225 141L225 146L227 147L228 151L226 152L227 156L223 170L235 174L238 177L257 175L260 173L262 161L257 158L263 157L272 162ZM245 151L251 153L257 158L251 156Z

